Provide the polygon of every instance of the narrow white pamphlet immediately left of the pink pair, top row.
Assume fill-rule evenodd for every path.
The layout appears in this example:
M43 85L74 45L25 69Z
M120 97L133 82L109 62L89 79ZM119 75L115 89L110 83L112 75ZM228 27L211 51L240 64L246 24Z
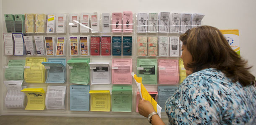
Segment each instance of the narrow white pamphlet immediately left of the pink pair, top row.
M102 32L110 32L110 13L102 13Z

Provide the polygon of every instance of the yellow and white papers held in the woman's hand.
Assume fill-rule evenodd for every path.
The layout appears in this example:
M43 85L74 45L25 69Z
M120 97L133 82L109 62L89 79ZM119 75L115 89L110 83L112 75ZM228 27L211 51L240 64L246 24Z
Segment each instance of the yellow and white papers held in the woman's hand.
M146 88L144 87L144 85L141 83L142 82L142 77L137 77L136 74L134 74L134 72L131 73L131 75L133 76L134 80L136 81L136 85L138 87L138 90L140 92L141 95L141 99L143 100L148 100L154 107L154 110L157 112L157 114L159 115L159 117L161 117L161 110L162 107L160 107L157 104L157 101L154 100L154 98L149 95L149 92L146 90Z

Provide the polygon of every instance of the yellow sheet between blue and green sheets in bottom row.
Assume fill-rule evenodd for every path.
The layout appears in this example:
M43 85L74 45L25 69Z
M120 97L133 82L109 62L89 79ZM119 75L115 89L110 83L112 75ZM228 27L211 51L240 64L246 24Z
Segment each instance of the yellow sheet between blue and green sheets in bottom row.
M110 90L90 90L91 111L110 112Z

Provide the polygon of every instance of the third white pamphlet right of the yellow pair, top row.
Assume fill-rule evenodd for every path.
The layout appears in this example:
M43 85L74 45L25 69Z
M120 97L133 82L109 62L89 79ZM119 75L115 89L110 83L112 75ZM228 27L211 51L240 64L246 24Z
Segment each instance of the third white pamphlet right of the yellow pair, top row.
M69 16L69 32L78 32L78 22L79 15L78 14L71 14Z

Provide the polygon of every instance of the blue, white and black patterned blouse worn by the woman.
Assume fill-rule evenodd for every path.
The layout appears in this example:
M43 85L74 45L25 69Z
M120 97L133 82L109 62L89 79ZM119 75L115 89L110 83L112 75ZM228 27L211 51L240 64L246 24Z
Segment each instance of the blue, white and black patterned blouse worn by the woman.
M169 125L256 125L256 87L204 69L185 78L165 110Z

